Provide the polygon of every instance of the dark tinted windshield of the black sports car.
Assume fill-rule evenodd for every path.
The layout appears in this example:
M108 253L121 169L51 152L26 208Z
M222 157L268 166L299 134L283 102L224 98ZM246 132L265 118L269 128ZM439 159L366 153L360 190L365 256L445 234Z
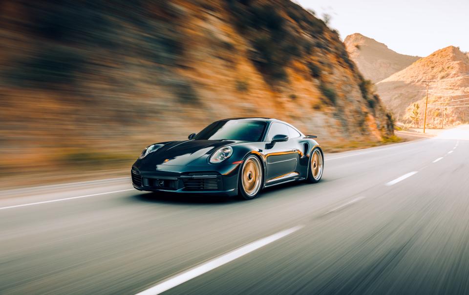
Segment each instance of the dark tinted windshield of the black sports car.
M194 139L260 141L266 125L256 120L217 121L205 127Z

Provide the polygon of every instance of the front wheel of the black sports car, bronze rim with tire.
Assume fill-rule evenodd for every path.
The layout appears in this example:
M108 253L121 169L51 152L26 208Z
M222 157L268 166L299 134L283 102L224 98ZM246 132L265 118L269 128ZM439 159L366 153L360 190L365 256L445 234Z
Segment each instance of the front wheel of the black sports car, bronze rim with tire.
M239 169L238 195L244 200L256 198L263 187L262 164L255 155L248 156Z

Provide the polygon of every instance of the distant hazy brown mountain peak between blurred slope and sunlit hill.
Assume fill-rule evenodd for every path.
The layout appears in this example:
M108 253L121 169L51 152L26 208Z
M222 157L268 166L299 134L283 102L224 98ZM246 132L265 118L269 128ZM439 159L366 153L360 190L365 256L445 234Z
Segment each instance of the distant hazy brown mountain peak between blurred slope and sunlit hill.
M399 54L385 44L355 33L344 40L350 58L366 79L379 82L419 59L418 56Z

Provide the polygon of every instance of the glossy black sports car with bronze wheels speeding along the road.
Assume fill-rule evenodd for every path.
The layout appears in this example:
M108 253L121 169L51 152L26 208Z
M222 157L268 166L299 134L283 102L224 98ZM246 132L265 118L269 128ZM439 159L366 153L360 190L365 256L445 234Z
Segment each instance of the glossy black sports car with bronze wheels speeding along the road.
M131 170L137 190L239 195L265 187L320 181L324 157L316 136L269 118L216 121L189 140L148 146Z

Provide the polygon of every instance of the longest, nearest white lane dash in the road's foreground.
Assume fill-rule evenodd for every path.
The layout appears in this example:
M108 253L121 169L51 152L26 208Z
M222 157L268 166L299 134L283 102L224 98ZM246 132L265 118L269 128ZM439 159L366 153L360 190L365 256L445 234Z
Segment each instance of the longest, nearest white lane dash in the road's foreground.
M303 225L298 225L296 227L293 227L288 230L284 230L281 232L274 233L273 235L269 235L268 237L262 238L260 240L254 241L252 243L249 243L245 246L242 246L238 249L235 249L231 252L228 252L226 254L223 254L221 256L218 256L216 258L213 258L212 260L209 260L205 263L202 263L198 266L195 266L185 272L182 272L180 274L176 274L174 276L171 276L170 278L161 281L160 283L156 284L153 287L150 287L147 290L144 290L140 293L137 293L137 295L156 295L163 293L171 288L174 288L182 283L185 283L194 277L197 277L201 274L205 274L207 272L210 272L211 270L220 267L224 264L227 264L228 262L231 262L235 260L236 258L239 258L243 255L246 255L248 253L251 253L265 245L268 245L272 242L277 241L278 239L281 239L284 236L287 236L293 232L298 231L301 229Z

